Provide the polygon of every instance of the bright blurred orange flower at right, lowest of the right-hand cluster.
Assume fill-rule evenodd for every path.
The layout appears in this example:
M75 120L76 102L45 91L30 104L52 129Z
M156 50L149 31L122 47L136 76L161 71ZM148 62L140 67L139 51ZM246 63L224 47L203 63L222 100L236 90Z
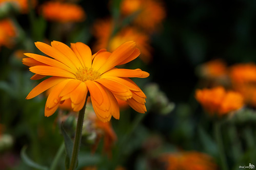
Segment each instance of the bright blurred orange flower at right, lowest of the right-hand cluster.
M226 91L223 87L212 89L198 89L195 91L195 99L210 113L219 115L243 107L243 97L240 93Z

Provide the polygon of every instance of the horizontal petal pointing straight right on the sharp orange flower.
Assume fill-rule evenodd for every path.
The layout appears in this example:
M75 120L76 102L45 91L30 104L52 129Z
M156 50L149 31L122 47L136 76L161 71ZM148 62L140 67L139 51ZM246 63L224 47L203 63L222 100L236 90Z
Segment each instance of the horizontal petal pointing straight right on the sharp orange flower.
M102 75L102 78L104 78L104 76L146 78L149 76L149 74L146 71L142 71L140 68L137 68L137 69L117 68L117 69L111 69L105 72Z

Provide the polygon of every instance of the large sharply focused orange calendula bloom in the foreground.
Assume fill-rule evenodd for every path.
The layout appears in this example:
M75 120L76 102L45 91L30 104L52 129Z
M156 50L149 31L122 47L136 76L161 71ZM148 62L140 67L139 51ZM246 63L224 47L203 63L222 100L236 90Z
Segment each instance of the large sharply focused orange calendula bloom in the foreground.
M71 43L71 48L62 42L52 41L51 46L35 42L36 47L52 57L26 53L25 65L35 75L32 80L51 76L31 90L26 99L32 99L53 87L45 106L45 116L52 115L60 103L67 99L72 102L73 111L80 111L90 93L93 109L103 122L111 116L120 117L119 106L115 98L126 101L134 110L145 113L143 91L129 78L146 78L149 74L141 69L116 68L132 61L140 55L133 41L120 45L113 53L100 50L94 55L90 48L82 43Z

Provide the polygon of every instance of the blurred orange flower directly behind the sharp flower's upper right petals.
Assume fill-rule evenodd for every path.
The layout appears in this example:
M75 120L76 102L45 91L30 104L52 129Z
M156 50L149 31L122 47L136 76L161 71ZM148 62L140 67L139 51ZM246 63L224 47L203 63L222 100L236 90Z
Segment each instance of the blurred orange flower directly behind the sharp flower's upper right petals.
M132 27L126 27L111 37L112 29L112 20L99 20L95 23L93 27L93 34L97 38L95 51L108 47L109 51L112 52L122 43L132 40L141 50L140 58L146 63L151 60L149 37L145 33Z

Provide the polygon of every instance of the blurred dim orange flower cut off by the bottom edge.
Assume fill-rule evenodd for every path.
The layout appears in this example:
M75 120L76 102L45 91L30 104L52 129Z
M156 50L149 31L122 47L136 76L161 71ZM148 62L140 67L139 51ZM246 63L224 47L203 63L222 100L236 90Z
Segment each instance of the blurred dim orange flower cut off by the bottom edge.
M163 154L161 162L166 170L214 170L217 169L213 159L204 153L190 151Z

